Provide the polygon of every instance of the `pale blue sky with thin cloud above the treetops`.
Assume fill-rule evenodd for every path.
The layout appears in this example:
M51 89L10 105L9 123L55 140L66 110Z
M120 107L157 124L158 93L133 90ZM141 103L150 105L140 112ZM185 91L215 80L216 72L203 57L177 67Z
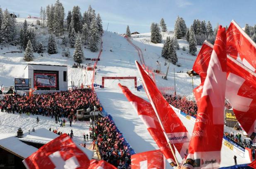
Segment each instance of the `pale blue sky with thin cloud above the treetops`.
M40 7L54 4L56 0L0 0L2 10L15 12L20 17L39 16ZM80 6L83 14L92 6L101 15L104 30L125 33L129 25L131 32L150 32L152 22L164 18L169 31L174 30L176 17L183 17L187 26L194 19L210 21L228 26L234 19L244 27L245 23L256 24L256 0L60 0L67 15L74 5ZM109 25L109 26L108 26Z

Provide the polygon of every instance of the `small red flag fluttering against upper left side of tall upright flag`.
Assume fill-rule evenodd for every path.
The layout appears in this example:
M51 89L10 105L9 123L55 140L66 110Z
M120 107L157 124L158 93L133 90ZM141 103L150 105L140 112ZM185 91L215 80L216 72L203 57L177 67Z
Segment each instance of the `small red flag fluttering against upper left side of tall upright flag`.
M193 70L200 75L201 82L205 81L207 75L207 68L209 65L210 57L213 52L213 45L205 40L203 46L201 47L196 61L193 65Z

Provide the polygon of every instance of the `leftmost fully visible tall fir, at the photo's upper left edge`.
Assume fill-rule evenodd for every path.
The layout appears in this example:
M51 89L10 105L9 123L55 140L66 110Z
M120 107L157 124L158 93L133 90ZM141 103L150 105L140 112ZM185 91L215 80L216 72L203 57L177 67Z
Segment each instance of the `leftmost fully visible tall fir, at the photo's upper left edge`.
M2 25L1 25L1 42L7 43L10 42L12 38L12 25L11 25L11 16L7 9L5 9L2 19Z

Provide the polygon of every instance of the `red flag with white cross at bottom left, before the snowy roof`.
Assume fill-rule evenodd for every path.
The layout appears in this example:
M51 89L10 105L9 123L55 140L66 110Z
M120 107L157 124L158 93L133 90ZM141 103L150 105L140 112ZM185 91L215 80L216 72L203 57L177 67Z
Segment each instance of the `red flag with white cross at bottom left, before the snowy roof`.
M90 160L67 134L63 134L24 159L27 169L87 169Z

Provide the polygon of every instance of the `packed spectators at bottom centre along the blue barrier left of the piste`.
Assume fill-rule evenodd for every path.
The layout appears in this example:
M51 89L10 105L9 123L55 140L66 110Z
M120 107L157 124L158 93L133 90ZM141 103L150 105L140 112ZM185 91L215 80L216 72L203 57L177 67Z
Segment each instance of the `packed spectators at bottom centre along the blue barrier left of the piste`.
M95 144L102 160L119 169L130 169L130 153L123 135L109 116L101 117L95 126Z

